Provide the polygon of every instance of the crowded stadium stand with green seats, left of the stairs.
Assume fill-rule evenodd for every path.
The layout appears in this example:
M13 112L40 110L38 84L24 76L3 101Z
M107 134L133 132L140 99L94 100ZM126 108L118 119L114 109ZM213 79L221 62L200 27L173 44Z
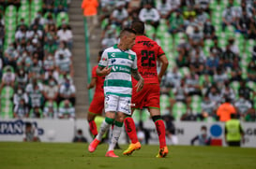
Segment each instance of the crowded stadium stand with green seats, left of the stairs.
M75 118L68 0L0 8L1 118Z

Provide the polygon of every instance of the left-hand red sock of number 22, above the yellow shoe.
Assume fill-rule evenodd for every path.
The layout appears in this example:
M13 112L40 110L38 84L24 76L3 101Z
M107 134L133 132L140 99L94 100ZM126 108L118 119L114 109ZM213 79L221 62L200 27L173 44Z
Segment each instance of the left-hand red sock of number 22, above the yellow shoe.
M125 122L126 131L127 131L127 134L128 134L128 137L129 137L131 143L132 144L137 143L139 140L137 137L134 120L132 118L128 117L124 120L124 122Z

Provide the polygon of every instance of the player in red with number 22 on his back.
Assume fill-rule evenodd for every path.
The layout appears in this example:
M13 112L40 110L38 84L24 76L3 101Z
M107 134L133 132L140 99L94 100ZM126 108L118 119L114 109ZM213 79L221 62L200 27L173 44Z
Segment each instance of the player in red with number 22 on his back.
M135 45L132 50L137 54L137 65L141 76L144 78L144 86L141 92L136 92L133 88L131 103L135 104L134 109L142 109L147 107L152 120L154 120L159 139L159 152L157 157L165 157L168 153L165 141L165 125L160 116L159 83L164 75L168 60L164 51L158 46L158 43L146 37L144 34L144 23L142 21L134 21L131 24L131 29L136 32ZM161 63L160 72L157 72L157 60ZM137 81L132 79L134 87ZM130 155L134 150L140 149L141 144L138 141L135 123L131 117L125 119L125 127L131 144L128 149L123 152L124 155Z

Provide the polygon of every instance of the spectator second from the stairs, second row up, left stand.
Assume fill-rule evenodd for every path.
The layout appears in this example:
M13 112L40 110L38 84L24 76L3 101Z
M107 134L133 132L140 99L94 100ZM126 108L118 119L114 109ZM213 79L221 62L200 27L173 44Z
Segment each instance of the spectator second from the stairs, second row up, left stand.
M59 88L53 77L50 77L48 83L43 87L43 96L45 101L55 101L58 99Z

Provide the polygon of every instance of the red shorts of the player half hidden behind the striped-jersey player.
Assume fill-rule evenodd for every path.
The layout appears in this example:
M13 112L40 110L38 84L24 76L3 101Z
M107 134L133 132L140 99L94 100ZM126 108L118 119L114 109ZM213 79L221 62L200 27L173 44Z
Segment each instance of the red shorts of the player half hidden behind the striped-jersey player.
M89 113L101 115L104 108L104 95L94 96L92 103L89 107Z

